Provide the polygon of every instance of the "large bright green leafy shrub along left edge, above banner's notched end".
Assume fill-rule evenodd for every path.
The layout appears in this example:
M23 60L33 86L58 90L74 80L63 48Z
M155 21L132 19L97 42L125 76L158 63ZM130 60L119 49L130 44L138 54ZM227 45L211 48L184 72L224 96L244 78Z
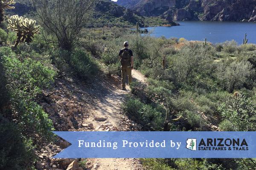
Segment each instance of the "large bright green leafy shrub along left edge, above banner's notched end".
M4 56L2 64L12 111L17 114L17 124L23 134L30 136L37 133L50 137L52 121L33 100L41 89L50 86L55 72L30 58L20 62L15 57Z

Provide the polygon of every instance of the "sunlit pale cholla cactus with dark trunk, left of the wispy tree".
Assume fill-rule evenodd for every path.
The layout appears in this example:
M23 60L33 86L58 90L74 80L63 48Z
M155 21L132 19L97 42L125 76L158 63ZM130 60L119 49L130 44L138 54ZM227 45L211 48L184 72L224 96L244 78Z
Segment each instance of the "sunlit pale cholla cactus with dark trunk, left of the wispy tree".
M38 34L40 26L35 26L35 20L29 20L28 18L19 17L13 15L9 18L9 29L12 29L17 33L17 40L15 46L21 42L31 43L35 34Z

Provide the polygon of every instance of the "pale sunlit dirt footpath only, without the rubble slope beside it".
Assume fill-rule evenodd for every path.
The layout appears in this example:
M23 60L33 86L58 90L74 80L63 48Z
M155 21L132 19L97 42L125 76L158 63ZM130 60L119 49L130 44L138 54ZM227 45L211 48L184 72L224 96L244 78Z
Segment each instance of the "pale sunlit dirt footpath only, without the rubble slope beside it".
M132 71L134 81L145 82L145 77L137 70ZM94 127L98 127L101 124L110 123L117 127L118 130L122 130L123 122L120 122L122 114L121 106L125 100L125 95L130 92L127 87L127 91L121 90L121 82L116 82L109 85L109 89L98 87L100 93L96 97L99 99L94 110L91 110L91 116L85 123L93 123ZM106 121L96 121L95 118L106 118ZM97 129L97 128L96 128ZM142 166L138 159L134 158L94 158L88 159L91 162L91 170L141 170Z

